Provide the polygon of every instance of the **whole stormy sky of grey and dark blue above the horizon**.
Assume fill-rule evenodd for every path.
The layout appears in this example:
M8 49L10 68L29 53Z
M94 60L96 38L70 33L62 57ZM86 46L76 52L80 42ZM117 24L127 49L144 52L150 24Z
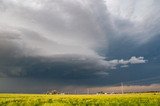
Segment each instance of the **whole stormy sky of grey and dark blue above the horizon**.
M104 89L121 82L154 89L160 83L159 5L0 0L0 92Z

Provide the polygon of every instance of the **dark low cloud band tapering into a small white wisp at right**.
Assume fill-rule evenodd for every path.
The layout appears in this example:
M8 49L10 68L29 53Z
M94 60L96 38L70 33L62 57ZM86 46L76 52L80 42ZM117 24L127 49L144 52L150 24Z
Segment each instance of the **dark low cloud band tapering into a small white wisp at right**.
M143 57L129 60L104 60L82 55L56 55L54 57L1 58L0 77L42 78L71 80L107 77L108 70L124 65L146 63ZM118 67L117 67L118 66Z

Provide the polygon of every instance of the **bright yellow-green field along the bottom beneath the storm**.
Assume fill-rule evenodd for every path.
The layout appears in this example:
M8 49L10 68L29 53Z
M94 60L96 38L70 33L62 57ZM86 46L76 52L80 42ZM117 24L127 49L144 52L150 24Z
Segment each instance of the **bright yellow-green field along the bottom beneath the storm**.
M160 93L123 95L0 94L0 106L160 106Z

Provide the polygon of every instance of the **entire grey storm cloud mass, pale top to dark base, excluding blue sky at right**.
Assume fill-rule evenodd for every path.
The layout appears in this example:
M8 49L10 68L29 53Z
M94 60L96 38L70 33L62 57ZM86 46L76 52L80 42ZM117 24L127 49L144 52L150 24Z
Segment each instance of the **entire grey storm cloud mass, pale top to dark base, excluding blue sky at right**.
M143 55L110 60L105 54L118 43L116 39L143 46L157 36L158 4L155 0L1 0L0 76L85 79L108 76L108 70L118 66L146 63Z

